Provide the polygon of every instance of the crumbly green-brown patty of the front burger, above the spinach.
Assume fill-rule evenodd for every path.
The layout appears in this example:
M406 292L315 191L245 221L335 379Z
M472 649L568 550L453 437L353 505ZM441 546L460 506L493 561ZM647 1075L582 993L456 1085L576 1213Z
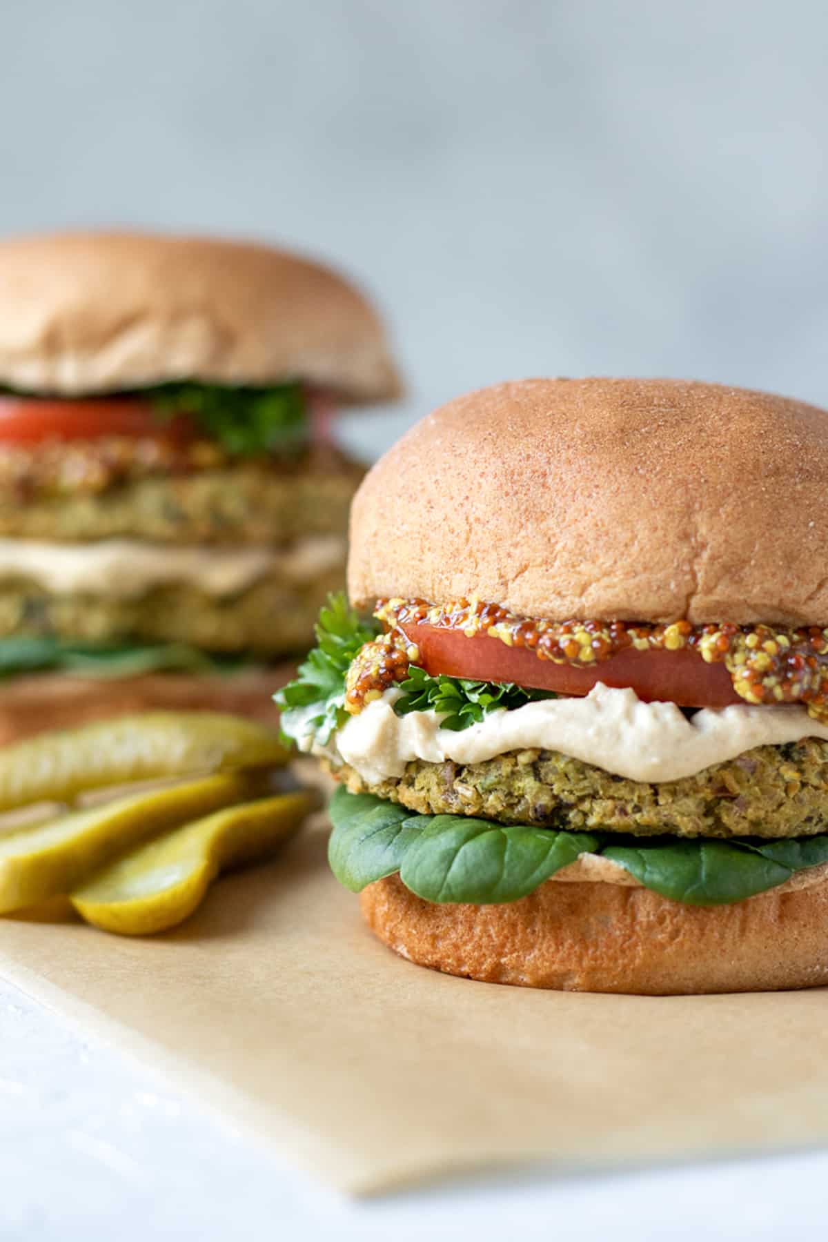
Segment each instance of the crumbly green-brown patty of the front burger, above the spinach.
M828 831L828 743L757 746L683 780L644 784L557 751L520 750L480 764L410 763L379 785L348 765L334 775L421 815L636 836L799 837Z

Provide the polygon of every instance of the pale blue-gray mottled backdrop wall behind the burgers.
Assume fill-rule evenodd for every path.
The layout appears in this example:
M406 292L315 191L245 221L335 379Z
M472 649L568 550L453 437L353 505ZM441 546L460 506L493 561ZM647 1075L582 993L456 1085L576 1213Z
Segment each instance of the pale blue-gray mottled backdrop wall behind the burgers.
M828 402L828 9L2 0L0 233L144 224L333 258L406 406L526 374Z

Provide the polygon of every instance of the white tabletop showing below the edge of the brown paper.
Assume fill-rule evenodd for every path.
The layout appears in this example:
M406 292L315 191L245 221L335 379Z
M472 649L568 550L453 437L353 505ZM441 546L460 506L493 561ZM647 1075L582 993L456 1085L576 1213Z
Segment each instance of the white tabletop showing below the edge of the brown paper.
M0 981L0 1238L826 1237L828 1153L345 1200Z

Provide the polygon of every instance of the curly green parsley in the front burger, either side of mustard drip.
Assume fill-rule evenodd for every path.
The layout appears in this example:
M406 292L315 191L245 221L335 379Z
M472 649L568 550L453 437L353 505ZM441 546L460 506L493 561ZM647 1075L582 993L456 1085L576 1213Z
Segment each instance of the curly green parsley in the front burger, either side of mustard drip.
M345 677L359 650L380 632L376 621L362 621L348 606L344 595L331 595L317 623L317 646L294 681L279 691L276 702L282 708L282 730L298 740L313 733L325 745L348 719ZM397 715L434 710L441 727L459 732L482 720L497 708L523 707L536 699L555 698L550 691L524 689L511 682L477 682L459 677L432 677L416 664L400 682L400 698L394 704Z

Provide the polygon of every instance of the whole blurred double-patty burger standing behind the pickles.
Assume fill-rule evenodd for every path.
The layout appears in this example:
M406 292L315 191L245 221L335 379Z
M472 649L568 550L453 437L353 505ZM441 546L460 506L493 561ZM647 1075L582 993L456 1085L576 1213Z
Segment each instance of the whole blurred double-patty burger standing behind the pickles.
M329 417L398 391L369 303L295 256L0 243L0 741L146 705L267 710L251 661L302 650L344 575L362 469Z

